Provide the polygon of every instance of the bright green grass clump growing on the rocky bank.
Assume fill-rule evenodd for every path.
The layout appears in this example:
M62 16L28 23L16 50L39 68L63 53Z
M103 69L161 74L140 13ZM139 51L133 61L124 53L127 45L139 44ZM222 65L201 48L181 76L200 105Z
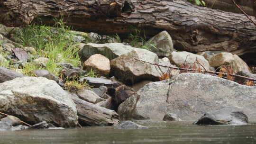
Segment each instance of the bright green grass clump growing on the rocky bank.
M47 57L49 61L46 63L46 68L41 69L46 69L58 76L58 63L71 63L74 66L80 63L78 43L74 41L75 35L69 30L71 28L65 26L60 19L55 21L55 27L34 24L24 27L16 32L16 37L19 44L34 47L39 56ZM25 65L24 69L32 70L29 65Z

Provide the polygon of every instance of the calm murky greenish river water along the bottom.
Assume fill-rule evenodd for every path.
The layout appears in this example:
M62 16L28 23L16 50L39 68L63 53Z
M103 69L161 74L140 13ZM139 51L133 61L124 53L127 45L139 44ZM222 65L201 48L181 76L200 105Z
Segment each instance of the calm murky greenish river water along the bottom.
M256 144L256 124L196 126L192 122L137 122L148 129L92 126L0 131L0 144Z

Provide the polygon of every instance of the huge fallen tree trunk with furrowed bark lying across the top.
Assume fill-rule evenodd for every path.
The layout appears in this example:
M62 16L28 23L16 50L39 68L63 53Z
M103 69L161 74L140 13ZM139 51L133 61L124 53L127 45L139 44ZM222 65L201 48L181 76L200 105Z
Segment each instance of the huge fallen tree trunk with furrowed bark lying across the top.
M148 36L166 30L176 49L190 52L256 52L256 27L242 14L180 0L131 1L135 7L125 3L119 9L118 4L113 8L114 0L1 0L0 22L15 27L32 21L53 25L53 18L63 17L77 30L99 34L128 35L130 26L145 29Z

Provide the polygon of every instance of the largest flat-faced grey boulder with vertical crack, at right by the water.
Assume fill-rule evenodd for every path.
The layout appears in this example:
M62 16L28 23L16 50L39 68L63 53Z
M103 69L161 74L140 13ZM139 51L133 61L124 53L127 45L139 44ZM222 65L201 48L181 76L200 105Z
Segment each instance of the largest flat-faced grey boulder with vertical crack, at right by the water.
M136 107L130 104L133 108L129 108L134 109L130 114L134 118L162 120L171 112L183 120L195 120L207 111L233 106L243 110L249 119L256 119L254 87L207 74L182 73L148 83L137 94Z

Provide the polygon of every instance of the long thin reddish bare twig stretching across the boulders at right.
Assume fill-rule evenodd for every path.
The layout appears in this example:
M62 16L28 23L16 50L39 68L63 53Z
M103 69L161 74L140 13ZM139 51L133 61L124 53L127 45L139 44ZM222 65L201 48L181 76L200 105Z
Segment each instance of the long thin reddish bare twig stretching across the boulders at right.
M134 58L134 59L135 59L136 61L143 62L143 63L149 63L149 64L152 64L152 65L157 65L157 66L172 68L172 69L176 69L176 70L184 70L184 71L196 72L196 70L194 70L194 69L178 68L178 67L172 67L172 66L161 65L161 64L157 64L157 63L150 63L150 62L138 60L137 58ZM212 71L206 71L206 70L205 70L204 72L213 73L213 74L216 74L216 75L218 75L218 74L220 73L220 72L212 72ZM228 74L227 74L227 73L223 73L223 75L224 75L224 76L227 76ZM249 78L249 77L245 77L245 76L241 76L241 75L237 75L237 74L230 74L230 75L231 75L231 76L235 76L235 77L240 77L240 78L243 78L243 79L247 79L247 80L250 80L250 81L256 81L256 79Z

